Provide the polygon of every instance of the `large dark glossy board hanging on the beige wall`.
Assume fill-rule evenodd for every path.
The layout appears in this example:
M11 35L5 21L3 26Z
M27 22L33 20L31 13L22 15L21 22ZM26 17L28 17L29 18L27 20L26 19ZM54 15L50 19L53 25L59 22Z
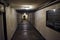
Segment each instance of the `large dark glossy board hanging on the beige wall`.
M60 32L60 9L52 9L46 11L47 27Z

